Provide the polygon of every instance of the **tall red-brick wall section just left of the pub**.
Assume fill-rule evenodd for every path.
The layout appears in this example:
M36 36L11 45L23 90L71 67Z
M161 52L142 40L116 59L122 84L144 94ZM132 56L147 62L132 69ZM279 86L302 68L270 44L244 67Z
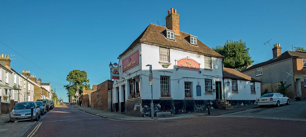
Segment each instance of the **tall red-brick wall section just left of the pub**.
M111 88L110 80L97 85L97 91L91 93L91 107L96 109L108 109L108 91Z

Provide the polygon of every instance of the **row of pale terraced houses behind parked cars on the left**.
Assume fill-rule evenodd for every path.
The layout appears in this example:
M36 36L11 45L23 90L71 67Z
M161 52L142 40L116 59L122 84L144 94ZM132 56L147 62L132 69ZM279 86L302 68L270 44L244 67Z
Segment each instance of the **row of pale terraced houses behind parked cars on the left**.
M9 113L17 102L51 99L50 83L42 83L30 71L21 74L10 67L9 55L0 55L0 100L1 113Z

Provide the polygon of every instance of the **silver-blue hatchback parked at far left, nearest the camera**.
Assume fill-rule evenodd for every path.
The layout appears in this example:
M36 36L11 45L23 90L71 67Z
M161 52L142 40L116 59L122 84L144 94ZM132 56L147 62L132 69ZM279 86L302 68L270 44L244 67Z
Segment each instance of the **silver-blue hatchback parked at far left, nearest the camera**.
M34 101L18 102L12 112L9 114L10 122L31 120L31 108L33 109L33 119L38 121L40 118L40 109Z

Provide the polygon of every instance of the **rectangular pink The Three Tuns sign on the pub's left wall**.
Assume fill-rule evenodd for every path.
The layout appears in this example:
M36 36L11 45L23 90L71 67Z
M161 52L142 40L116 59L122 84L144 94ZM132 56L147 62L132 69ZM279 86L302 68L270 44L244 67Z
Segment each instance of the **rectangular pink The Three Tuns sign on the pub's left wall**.
M133 53L131 56L125 58L122 61L122 72L125 72L129 70L130 68L133 68L134 66L139 64L139 52L138 50Z

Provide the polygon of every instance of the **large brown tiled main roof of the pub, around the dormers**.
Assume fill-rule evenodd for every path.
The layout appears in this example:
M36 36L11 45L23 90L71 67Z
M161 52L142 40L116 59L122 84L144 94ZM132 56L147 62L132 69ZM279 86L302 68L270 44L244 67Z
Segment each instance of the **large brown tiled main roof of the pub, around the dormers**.
M134 40L134 42L122 53L124 54L127 50L129 50L132 46L134 46L138 42L147 42L158 45L167 46L169 48L177 48L186 51L192 51L200 54L204 54L211 57L219 57L224 58L224 56L218 54L205 44L203 44L199 39L197 40L197 46L193 46L187 42L185 37L190 34L180 31L179 35L174 36L174 40L170 40L165 38L165 36L161 33L167 29L166 27L162 27L155 24L150 24L141 34L140 36ZM120 54L119 57L122 55Z

